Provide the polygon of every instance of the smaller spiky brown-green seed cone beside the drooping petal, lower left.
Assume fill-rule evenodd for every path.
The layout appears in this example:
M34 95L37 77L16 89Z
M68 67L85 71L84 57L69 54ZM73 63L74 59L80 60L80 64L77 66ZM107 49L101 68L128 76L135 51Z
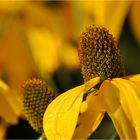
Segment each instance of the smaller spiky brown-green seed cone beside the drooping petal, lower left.
M39 132L43 127L43 115L57 94L40 79L31 79L24 84L24 114L30 125Z

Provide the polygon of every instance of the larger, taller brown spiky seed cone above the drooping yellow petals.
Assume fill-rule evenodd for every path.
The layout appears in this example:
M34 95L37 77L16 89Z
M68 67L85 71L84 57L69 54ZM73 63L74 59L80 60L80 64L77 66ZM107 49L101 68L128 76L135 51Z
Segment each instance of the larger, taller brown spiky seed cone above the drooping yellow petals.
M91 25L82 32L78 55L85 82L101 75L107 78L124 76L117 42L105 27Z

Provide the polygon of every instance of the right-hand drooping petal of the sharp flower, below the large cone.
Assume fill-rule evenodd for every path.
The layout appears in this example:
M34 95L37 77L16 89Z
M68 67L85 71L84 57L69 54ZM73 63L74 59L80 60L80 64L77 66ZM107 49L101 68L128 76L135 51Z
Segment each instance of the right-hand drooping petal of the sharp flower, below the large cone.
M121 78L106 80L101 88L102 101L122 139L140 138L140 92L136 85Z

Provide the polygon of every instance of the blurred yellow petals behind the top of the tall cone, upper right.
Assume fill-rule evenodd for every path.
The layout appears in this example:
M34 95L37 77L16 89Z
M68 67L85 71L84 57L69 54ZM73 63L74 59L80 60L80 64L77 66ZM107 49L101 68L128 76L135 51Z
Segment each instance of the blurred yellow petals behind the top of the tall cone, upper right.
M83 26L94 23L107 27L115 38L119 39L128 16L132 33L140 44L139 1L73 1L72 6L76 10L74 17L78 33Z

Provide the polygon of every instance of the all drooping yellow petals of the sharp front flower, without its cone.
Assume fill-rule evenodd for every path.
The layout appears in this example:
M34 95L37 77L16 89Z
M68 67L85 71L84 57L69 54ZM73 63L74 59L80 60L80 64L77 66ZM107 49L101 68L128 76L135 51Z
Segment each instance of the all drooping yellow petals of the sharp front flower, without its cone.
M134 75L105 80L99 90L94 89L87 97L85 111L81 111L83 97L99 83L98 77L58 96L44 114L43 127L47 139L88 138L105 112L112 119L121 139L139 139L139 79L140 75Z

